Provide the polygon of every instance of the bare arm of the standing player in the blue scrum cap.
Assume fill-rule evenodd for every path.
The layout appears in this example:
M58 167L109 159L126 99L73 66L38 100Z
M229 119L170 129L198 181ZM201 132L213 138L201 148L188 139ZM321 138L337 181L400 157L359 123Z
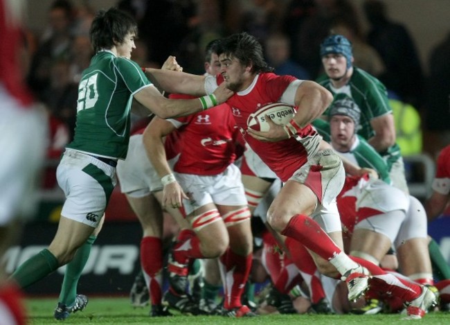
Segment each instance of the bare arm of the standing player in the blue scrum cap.
M370 120L375 136L368 139L370 146L382 152L395 143L395 126L393 114L378 116Z

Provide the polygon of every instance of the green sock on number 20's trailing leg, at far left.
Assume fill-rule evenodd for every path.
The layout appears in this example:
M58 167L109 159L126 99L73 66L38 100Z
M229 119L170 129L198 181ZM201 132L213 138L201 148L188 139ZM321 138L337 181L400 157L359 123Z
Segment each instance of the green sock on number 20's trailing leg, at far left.
M21 288L26 288L33 283L51 274L60 266L56 257L48 249L42 249L35 256L28 258L22 265L17 267L11 278Z

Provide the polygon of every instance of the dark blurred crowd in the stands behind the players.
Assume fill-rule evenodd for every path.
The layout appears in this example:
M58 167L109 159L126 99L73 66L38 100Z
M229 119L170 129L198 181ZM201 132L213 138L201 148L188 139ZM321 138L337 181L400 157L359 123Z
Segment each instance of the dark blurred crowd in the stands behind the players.
M267 62L279 74L315 80L321 71L319 46L330 32L353 45L354 65L379 78L392 100L410 105L420 118L424 146L435 157L448 143L450 114L450 36L429 55L428 71L420 62L414 35L390 19L386 1L365 0L364 17L348 0L119 0L132 14L139 37L132 59L142 67L161 67L175 55L184 71L203 73L202 51L213 39L246 31L264 44ZM26 35L30 60L28 82L51 118L49 158L58 158L75 127L78 81L93 52L89 26L95 14L89 1L55 0L44 29ZM368 23L363 33L361 21ZM401 121L397 125L401 125ZM438 141L427 134L439 134ZM420 148L422 150L422 148ZM55 185L46 180L46 187Z

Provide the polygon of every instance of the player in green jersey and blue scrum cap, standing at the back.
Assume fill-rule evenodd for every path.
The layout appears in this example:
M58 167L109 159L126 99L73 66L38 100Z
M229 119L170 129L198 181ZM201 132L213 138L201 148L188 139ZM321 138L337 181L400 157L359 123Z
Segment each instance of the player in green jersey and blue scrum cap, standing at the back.
M352 44L343 35L326 37L320 55L325 74L316 81L330 90L335 99L338 94L345 94L357 103L361 109L357 133L386 160L393 186L408 193L386 87L374 76L353 66ZM326 116L328 112L329 109L325 111Z

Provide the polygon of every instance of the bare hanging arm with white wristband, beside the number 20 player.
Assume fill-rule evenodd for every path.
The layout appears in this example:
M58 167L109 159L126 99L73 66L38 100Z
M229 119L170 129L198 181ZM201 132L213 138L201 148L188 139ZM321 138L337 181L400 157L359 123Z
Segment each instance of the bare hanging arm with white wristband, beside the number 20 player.
M143 133L143 142L147 157L152 162L156 173L159 177L172 174L172 170L167 161L164 148L164 137L173 132L176 128L169 121L154 117L147 125ZM167 184L163 188L163 199L161 204L163 207L177 208L181 207L181 199L188 198L183 192L178 182Z

